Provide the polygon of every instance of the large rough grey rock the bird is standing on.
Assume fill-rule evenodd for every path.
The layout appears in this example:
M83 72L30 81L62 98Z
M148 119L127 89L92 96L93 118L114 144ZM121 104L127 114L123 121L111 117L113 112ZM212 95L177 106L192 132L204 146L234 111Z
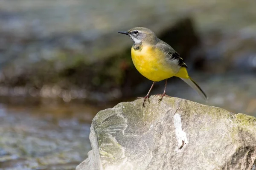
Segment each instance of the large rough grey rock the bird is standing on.
M151 96L100 111L93 150L76 170L251 170L256 118L185 99Z

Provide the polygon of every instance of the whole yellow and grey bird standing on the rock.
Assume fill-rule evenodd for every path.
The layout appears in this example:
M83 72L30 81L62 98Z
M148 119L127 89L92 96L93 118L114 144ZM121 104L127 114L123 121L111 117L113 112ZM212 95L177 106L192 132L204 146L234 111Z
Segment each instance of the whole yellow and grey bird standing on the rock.
M126 34L131 37L134 42L131 47L132 61L140 74L153 81L148 94L144 97L143 107L155 82L165 79L165 87L163 94L161 94L160 101L163 99L163 96L166 95L167 79L173 76L180 77L180 79L195 89L195 91L207 101L207 95L199 85L189 77L186 70L187 65L183 62L180 55L166 42L157 38L153 31L144 27L135 27L129 31L118 33Z

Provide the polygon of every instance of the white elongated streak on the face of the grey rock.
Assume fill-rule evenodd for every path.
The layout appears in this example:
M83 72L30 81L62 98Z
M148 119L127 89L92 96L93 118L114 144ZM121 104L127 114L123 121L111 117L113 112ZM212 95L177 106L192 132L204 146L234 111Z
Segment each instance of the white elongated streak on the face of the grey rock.
M181 117L177 113L174 115L174 126L176 138L178 140L178 148L180 148L181 146L183 147L183 145L189 143L189 141L186 137L186 133L182 130Z

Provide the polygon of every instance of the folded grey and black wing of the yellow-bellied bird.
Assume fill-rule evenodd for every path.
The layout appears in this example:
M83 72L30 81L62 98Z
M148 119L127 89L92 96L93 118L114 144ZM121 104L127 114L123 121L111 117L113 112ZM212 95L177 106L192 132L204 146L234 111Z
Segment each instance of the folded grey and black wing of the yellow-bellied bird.
M168 45L166 42L163 42L162 40L157 42L156 48L160 49L166 54L166 57L169 59L177 59L178 65L181 67L188 68L185 62L183 61L183 58L180 57L180 54L178 54L170 45Z

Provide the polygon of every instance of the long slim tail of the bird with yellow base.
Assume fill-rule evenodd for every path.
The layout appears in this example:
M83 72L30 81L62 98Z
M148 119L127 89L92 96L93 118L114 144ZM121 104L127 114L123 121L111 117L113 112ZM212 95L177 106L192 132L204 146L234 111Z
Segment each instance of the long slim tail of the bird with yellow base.
M180 71L175 75L176 77L179 77L184 82L186 82L190 87L192 87L197 93L204 98L205 101L208 100L207 95L204 93L204 91L199 87L199 85L191 78L189 77L189 74L186 70L186 68L180 68Z

